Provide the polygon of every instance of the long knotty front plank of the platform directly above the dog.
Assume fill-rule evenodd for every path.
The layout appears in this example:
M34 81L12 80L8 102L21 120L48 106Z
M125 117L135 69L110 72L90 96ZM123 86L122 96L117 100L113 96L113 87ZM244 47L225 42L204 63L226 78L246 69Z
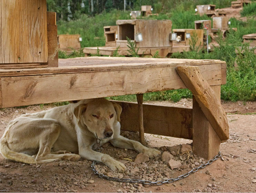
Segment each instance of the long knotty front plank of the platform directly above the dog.
M221 85L220 64L198 68L210 85ZM167 64L128 70L120 70L120 67L119 70L104 69L99 72L88 68L86 73L2 77L2 107L186 88L176 67Z

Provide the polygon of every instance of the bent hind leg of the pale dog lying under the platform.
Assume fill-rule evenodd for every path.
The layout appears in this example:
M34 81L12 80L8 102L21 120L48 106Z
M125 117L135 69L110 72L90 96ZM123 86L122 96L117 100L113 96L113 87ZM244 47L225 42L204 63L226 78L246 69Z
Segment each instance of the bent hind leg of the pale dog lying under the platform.
M37 163L48 163L55 160L78 161L78 154L66 153L67 151L58 151L51 153L51 148L60 134L60 125L52 120L47 123L47 129L40 136L39 151L36 156Z

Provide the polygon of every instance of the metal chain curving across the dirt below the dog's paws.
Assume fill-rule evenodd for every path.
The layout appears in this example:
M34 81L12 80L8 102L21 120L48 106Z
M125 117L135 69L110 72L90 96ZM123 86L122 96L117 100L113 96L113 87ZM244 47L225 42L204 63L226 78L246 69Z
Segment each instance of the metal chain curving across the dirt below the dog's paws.
M183 174L183 175L180 175L178 176L177 178L169 178L168 180L166 181L156 181L156 182L152 182L152 181L148 181L148 180L139 180L139 179L123 179L123 178L116 178L116 177L111 177L111 176L107 176L107 175L104 175L104 174L101 174L99 173L96 168L95 168L95 164L97 163L96 161L93 161L92 164L91 164L91 168L92 168L92 171L98 175L100 178L105 178L107 180L112 180L112 181L117 181L117 182L129 182L129 183L142 183L142 184L148 184L148 185L152 185L152 184L155 184L155 185L162 185L162 184L165 184L165 183L172 183L172 182L175 182L177 180L181 180L183 178L186 178L187 176L189 176L191 173L195 173L197 172L199 169L203 169L205 168L207 165L210 165L212 164L215 160L217 160L218 158L221 158L221 153L219 152L213 159L211 160L208 160L206 163L203 163L201 164L199 167L197 168L193 168L192 170L190 170L189 172Z

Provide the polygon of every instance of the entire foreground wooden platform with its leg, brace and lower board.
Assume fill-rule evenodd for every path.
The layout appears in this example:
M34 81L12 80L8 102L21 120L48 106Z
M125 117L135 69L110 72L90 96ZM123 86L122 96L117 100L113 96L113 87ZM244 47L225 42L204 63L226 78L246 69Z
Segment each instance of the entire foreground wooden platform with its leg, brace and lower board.
M185 78L186 72L192 73L187 74L189 78ZM189 83L191 77L196 80L200 76L203 87ZM228 139L226 114L224 111L218 114L220 85L226 83L226 63L223 61L72 58L59 59L57 68L1 69L0 78L1 108L127 94L137 94L141 99L143 93L188 87L195 96L193 109L142 105L140 100L142 116L137 110L138 104L119 102L123 108L121 129L139 131L140 117L147 133L193 139L194 153L205 159L213 158L219 151L220 142ZM212 90L209 92L203 84ZM207 99L210 100L207 102ZM218 121L225 122L222 128ZM142 134L141 139L143 142Z

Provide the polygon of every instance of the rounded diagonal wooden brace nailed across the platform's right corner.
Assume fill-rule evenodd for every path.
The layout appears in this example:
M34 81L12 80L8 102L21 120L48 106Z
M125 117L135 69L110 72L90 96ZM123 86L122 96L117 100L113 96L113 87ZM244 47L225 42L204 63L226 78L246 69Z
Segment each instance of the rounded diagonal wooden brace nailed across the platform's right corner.
M223 110L215 92L200 73L200 69L196 66L178 66L177 72L184 84L195 96L197 103L220 140L227 140L229 134L226 112Z

